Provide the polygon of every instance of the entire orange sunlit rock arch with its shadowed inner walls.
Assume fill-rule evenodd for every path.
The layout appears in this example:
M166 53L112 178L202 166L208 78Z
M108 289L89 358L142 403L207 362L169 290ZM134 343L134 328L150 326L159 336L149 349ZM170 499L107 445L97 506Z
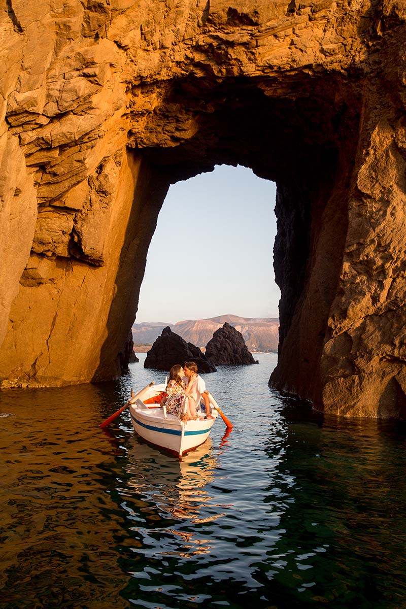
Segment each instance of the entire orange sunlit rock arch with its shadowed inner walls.
M278 185L271 384L404 416L405 19L401 0L9 0L2 387L119 375L168 186L239 163Z

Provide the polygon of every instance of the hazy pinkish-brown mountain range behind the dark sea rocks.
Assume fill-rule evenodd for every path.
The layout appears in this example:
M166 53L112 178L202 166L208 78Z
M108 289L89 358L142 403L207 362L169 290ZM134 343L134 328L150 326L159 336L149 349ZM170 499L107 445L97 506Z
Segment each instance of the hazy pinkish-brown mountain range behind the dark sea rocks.
M242 334L250 351L278 351L279 319L277 317L263 319L238 317L238 315L219 315L219 317L184 320L174 324L163 322L135 323L133 325L133 340L135 343L152 345L163 329L170 326L172 332L179 334L186 342L191 342L198 347L206 347L214 332L221 328L225 322L234 326Z

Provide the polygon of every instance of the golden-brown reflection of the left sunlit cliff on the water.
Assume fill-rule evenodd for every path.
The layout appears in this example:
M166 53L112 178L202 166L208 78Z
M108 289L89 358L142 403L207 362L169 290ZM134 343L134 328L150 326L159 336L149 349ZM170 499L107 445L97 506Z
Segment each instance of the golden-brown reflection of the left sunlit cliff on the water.
M126 607L128 576L112 543L120 519L105 493L117 452L94 427L100 393L7 395L14 416L0 434L3 606Z

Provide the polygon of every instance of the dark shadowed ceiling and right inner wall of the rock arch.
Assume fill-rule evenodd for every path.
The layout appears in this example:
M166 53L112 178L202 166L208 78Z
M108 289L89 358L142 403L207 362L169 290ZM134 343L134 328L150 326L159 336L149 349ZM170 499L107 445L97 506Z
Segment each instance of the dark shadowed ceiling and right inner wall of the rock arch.
M142 95L141 86L135 114ZM292 73L283 85L255 77L189 77L168 84L161 96L141 141L155 188L223 164L276 183L274 266L281 300L279 361L270 382L320 401L320 357L348 228L357 95L334 76L304 81ZM128 145L140 149L139 133L130 130Z

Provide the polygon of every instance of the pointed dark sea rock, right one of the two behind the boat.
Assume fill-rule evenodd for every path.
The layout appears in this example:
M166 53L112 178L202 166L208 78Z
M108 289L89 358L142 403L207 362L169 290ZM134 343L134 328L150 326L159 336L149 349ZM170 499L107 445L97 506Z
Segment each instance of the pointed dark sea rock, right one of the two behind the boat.
M215 365L243 366L258 363L248 351L242 334L227 322L215 331L207 343L206 357Z

